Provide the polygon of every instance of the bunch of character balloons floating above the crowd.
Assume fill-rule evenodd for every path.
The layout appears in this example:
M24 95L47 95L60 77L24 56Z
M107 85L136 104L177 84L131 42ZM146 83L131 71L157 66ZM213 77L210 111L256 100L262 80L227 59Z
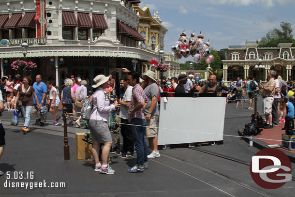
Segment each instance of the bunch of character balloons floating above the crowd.
M182 31L178 41L171 48L175 58L187 58L191 55L192 60L196 63L199 63L202 58L205 58L206 63L212 63L214 56L210 54L211 51L208 49L210 46L209 40L204 42L204 35L201 32L197 38L194 36L195 34L192 32L191 37L188 38L185 31Z

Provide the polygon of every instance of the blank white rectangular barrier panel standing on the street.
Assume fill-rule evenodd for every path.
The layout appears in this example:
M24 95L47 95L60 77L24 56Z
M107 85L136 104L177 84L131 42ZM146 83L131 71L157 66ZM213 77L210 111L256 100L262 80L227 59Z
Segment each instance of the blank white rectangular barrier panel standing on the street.
M158 145L223 140L224 97L161 98Z

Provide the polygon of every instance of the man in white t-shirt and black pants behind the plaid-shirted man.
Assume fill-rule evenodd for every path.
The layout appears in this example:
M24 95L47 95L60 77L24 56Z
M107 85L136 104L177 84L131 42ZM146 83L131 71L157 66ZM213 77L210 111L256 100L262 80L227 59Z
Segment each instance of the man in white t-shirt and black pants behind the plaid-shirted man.
M121 118L121 135L123 137L123 147L122 153L120 158L132 158L134 152L134 141L133 141L133 134L131 131L131 127L128 122L129 118L129 106L131 102L132 96L132 86L128 83L127 75L123 76L123 86L122 87L125 91L123 95L123 99L120 98L120 114L119 117Z

